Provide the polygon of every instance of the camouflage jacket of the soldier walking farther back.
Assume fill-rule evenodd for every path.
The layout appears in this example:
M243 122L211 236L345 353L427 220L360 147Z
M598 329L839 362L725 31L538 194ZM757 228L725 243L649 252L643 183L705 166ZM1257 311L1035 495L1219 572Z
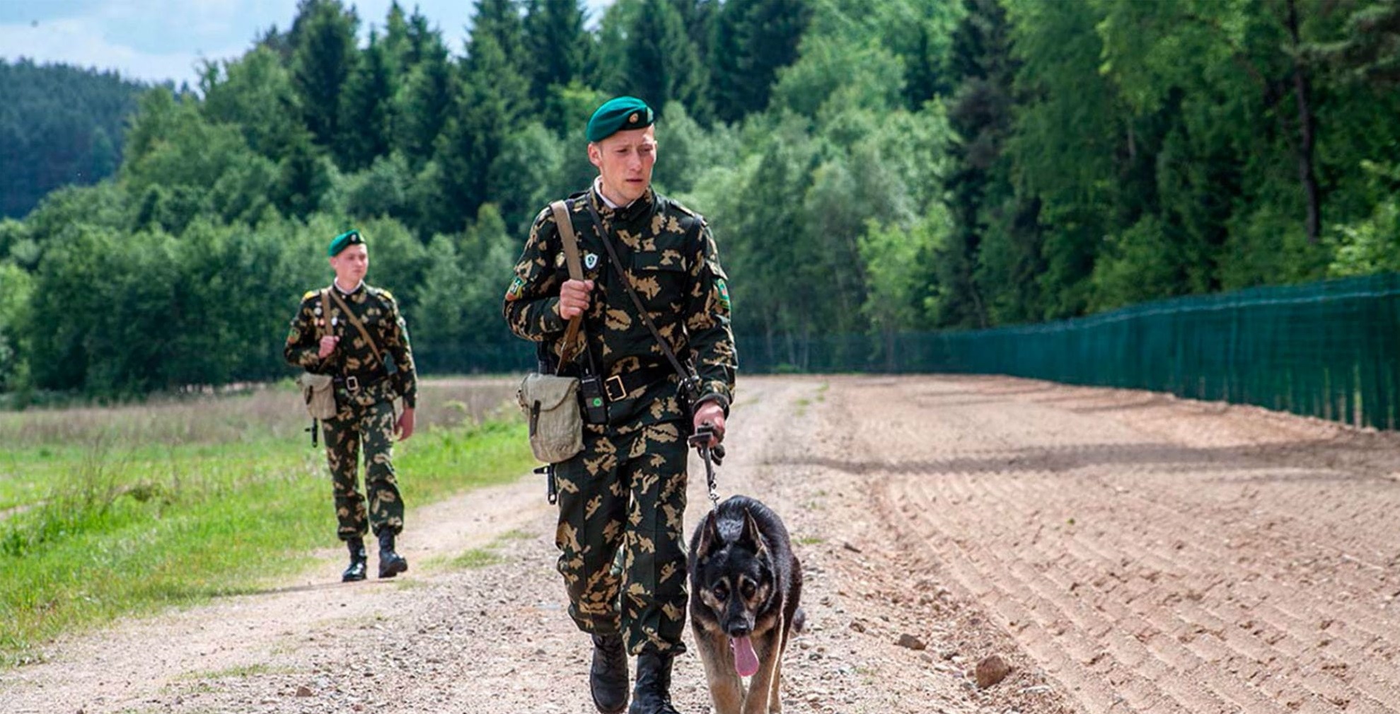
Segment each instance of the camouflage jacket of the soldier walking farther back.
M399 314L393 295L388 290L361 283L354 293L349 295L342 293L340 297L374 337L385 361L393 364L395 374L391 378L393 391L403 398L405 406L417 406L419 384L413 370L409 329L403 323L403 315ZM346 319L335 298L329 298L328 304L330 314L322 315L319 290L311 290L301 297L301 308L291 319L291 332L287 333L287 344L281 351L287 364L305 367L307 371L316 374L356 375L358 379L382 375L384 367L375 358L374 349L354 323ZM322 333L340 337L336 351L325 360L316 356Z

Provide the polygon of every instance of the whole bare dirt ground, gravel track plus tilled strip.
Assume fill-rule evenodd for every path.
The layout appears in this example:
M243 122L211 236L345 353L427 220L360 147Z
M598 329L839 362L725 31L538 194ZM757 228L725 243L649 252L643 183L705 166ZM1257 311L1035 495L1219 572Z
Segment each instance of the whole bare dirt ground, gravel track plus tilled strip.
M804 563L788 713L1400 711L1394 434L1011 378L804 377L742 381L729 449L721 496L773 505ZM535 477L420 508L398 581L333 582L328 547L284 587L55 643L0 673L0 701L587 714L552 532ZM1011 673L979 689L991 654ZM678 708L708 711L693 655L676 679Z

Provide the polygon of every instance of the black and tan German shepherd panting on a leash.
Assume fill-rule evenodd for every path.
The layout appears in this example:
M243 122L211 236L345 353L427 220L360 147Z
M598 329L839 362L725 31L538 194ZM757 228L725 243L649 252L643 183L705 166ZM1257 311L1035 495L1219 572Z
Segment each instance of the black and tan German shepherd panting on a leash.
M734 496L690 538L690 627L718 714L777 714L783 651L802 629L802 570L783 521ZM752 678L743 692L741 676Z

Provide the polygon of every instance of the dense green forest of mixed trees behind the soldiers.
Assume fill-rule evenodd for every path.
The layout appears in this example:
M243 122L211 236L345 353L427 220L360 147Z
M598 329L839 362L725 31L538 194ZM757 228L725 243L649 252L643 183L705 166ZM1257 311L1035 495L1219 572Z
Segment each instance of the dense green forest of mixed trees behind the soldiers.
M524 368L501 294L533 216L595 174L584 125L619 94L658 109L655 183L715 232L741 368L745 342L801 370L819 335L1040 322L1400 267L1389 0L585 13L477 0L451 46L413 10L301 0L291 27L179 91L0 64L7 98L70 74L81 101L62 122L91 125L85 148L7 176L6 211L74 165L111 174L0 223L0 391L280 377L287 321L329 280L326 241L347 227L423 367ZM0 137L81 133L49 111L4 112Z

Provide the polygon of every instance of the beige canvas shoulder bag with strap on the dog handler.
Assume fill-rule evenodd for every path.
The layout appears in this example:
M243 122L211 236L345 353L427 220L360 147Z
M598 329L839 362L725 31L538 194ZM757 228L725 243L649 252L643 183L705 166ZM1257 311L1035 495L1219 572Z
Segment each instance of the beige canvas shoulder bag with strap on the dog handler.
M559 228L559 241L564 248L568 277L582 280L584 267L578 262L578 238L574 235L568 207L561 200L550 203L549 207L554 211L554 225ZM564 371L564 365L574 358L581 326L582 315L575 315L568 321L556 374L531 372L525 375L515 392L515 400L519 402L525 419L529 420L529 448L535 458L545 463L568 461L584 449L584 417L578 406L578 378L560 374Z

